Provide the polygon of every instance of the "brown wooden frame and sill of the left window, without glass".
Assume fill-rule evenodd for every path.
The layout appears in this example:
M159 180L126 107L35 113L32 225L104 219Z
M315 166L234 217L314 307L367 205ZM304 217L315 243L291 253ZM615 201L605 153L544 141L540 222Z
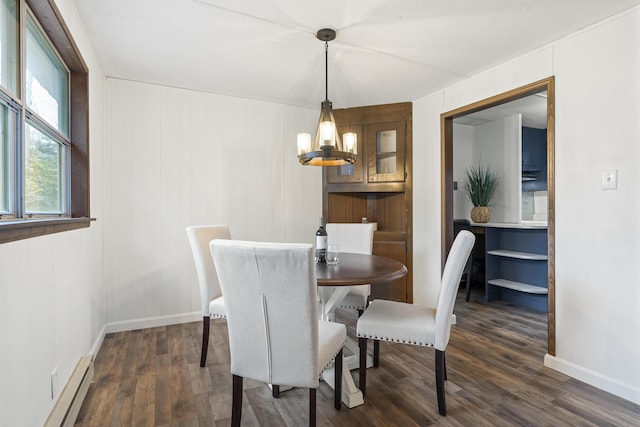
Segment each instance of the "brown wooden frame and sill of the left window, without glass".
M25 75L27 7L70 72L69 81L69 215L61 218L11 218L0 221L0 243L90 226L89 186L89 70L71 32L54 2L19 0L20 87ZM20 120L25 120L26 102L21 89ZM23 137L23 136L21 136ZM19 161L19 160L18 160ZM20 168L19 168L20 169Z

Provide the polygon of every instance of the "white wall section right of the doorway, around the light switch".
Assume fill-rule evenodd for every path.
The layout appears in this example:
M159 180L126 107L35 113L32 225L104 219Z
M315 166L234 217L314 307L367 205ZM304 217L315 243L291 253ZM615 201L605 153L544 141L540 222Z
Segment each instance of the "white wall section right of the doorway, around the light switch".
M555 52L552 362L640 403L640 9ZM600 189L609 169L618 170L615 191Z

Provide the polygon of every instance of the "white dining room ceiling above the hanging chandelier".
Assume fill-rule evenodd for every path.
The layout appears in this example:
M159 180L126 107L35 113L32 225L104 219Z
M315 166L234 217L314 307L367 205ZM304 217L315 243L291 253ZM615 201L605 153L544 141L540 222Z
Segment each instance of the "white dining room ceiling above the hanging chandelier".
M108 76L320 107L412 101L640 0L75 0Z

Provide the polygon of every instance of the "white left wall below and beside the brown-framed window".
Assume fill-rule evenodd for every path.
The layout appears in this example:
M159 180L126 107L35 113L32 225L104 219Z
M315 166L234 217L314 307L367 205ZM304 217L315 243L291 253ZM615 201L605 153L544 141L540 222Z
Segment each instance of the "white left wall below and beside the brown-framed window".
M106 323L104 75L72 1L56 3L91 69L90 208L97 221L0 245L0 424L6 426L44 424L54 404L51 372L58 368L62 387L79 359L99 345Z

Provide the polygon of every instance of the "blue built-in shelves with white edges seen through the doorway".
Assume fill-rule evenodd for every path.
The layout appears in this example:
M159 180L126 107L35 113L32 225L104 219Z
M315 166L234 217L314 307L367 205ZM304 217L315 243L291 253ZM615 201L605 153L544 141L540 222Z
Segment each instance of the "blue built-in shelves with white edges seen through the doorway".
M485 228L486 299L548 311L547 228Z

